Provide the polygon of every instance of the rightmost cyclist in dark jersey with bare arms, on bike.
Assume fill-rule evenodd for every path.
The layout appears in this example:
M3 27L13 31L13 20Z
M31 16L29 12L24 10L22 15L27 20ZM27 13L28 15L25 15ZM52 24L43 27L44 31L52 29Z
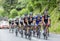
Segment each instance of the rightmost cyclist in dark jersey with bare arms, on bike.
M47 39L47 34L48 34L48 29L49 29L48 26L50 25L50 16L48 15L48 11L44 11L44 15L42 17L42 22L43 22L43 26L44 26L43 35L46 36L46 39Z

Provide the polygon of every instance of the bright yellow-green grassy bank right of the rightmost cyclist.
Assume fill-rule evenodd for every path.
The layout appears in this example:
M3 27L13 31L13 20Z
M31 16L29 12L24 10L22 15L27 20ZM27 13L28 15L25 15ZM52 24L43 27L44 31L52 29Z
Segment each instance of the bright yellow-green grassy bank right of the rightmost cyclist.
M58 7L56 7L51 13L51 32L59 33L60 32L60 13L57 11Z

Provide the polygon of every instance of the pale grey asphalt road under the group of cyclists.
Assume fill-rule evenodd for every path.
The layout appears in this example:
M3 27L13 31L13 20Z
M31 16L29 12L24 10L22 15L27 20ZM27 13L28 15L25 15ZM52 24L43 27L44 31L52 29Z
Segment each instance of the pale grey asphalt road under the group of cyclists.
M0 41L30 41L30 40L21 38L20 34L18 37L16 37L15 33L9 33L8 29L0 29ZM43 36L41 35L41 39L32 37L31 41L60 41L60 35L50 34L48 40L44 40Z

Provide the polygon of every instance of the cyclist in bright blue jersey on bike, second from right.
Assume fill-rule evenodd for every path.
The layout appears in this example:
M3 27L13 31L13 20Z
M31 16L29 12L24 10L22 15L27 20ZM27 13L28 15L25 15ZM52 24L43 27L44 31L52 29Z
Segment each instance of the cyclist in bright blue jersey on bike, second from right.
M41 34L41 23L42 23L42 16L40 14L36 17L36 24L37 24L37 37L40 38Z

